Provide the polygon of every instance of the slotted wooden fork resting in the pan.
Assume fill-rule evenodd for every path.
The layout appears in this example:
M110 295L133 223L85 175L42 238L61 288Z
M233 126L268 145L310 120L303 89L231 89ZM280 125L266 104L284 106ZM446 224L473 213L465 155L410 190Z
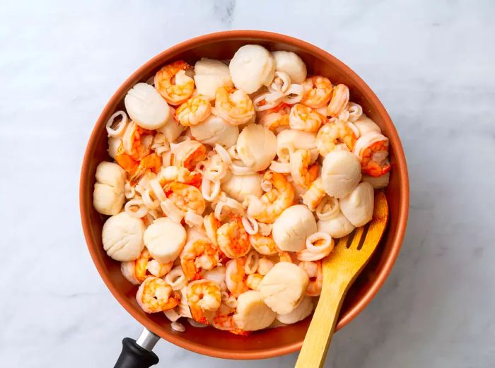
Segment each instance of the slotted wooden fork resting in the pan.
M388 203L375 192L373 220L339 239L323 261L323 285L318 306L304 338L296 368L322 367L337 324L344 297L380 242L388 221Z

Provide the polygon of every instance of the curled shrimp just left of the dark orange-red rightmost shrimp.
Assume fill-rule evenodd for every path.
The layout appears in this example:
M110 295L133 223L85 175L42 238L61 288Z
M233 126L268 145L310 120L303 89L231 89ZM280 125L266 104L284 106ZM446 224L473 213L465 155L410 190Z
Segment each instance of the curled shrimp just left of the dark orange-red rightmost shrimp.
M345 147L350 151L354 150L358 137L350 124L337 120L320 128L315 140L316 149L318 149L320 155L326 156L332 150L341 147Z

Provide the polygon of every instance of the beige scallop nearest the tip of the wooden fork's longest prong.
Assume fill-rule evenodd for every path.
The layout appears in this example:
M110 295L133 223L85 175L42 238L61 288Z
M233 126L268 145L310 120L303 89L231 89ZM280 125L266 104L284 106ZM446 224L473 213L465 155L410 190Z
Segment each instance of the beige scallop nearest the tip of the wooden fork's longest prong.
M373 186L360 183L356 188L339 201L340 210L352 225L365 225L373 217Z

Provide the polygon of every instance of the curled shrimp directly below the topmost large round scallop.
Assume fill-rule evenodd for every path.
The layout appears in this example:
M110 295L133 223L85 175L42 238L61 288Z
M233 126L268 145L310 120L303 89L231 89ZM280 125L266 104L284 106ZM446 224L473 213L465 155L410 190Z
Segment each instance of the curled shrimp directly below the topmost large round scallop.
M215 109L219 117L233 125L245 124L255 116L255 107L249 95L231 87L216 90Z

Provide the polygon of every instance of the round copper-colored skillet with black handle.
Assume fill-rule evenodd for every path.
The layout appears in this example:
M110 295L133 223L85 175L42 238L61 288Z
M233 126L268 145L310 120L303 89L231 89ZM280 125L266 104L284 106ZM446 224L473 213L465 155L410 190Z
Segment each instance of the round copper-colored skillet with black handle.
M177 44L147 61L112 95L96 121L81 169L79 189L81 222L93 262L110 292L122 304L122 307L145 327L144 334L138 339L137 344L132 339L124 339L121 355L123 360L117 363L117 367L149 367L156 364L158 357L148 350L153 348L158 336L187 350L226 359L276 357L301 348L310 322L309 318L298 324L272 328L245 337L235 336L214 328L193 328L191 326L187 326L185 332L177 333L170 328L170 321L163 314L144 313L136 303L136 286L124 279L120 273L120 263L110 259L103 250L101 230L105 216L100 215L93 208L96 166L103 160L110 160L106 151L105 123L115 110L122 109L127 90L140 81L147 81L169 61L185 59L190 64L194 64L194 61L202 57L231 59L235 50L248 43L262 44L270 50L296 52L305 61L309 73L327 76L332 83L348 85L351 90L351 100L359 103L363 107L363 112L381 127L385 136L390 138L392 171L390 184L385 189L390 206L390 222L373 258L347 293L337 323L337 330L354 319L373 299L385 282L399 254L409 210L409 179L406 160L399 136L388 113L371 88L354 71L351 71L342 61L312 44L272 32L255 30L216 32ZM356 52L359 50L356 49ZM139 357L140 363L133 361L136 357Z

